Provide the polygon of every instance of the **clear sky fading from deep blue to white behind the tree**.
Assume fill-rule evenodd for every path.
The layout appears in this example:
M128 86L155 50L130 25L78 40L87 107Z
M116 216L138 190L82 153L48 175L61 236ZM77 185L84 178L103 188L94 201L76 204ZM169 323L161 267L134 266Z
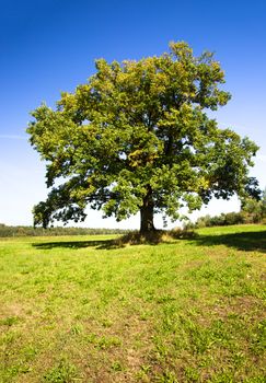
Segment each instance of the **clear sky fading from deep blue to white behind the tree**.
M45 164L27 142L30 112L54 107L94 72L94 59L161 55L186 40L196 55L216 53L232 94L216 113L221 127L259 147L251 175L266 186L266 1L0 0L0 223L32 224L46 197ZM212 201L203 213L238 210ZM158 219L158 225L160 225ZM137 228L138 217L120 228ZM89 211L86 227L117 227Z

